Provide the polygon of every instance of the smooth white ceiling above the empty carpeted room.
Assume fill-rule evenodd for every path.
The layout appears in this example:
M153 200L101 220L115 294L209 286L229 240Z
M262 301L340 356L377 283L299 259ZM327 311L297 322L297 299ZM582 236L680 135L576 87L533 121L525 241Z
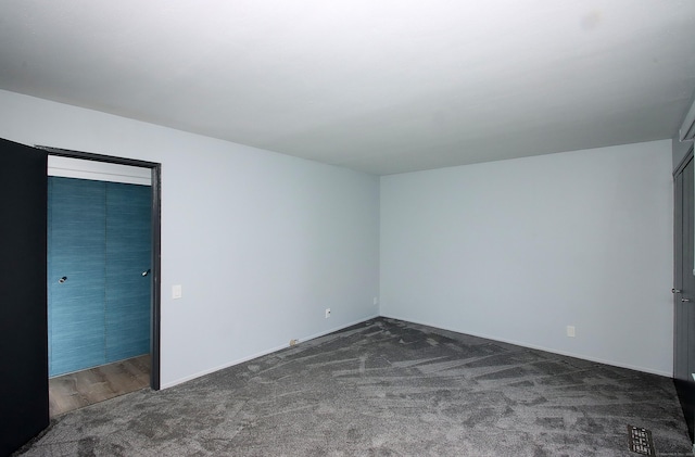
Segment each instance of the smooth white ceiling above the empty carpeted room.
M671 138L693 0L2 0L0 89L377 175Z

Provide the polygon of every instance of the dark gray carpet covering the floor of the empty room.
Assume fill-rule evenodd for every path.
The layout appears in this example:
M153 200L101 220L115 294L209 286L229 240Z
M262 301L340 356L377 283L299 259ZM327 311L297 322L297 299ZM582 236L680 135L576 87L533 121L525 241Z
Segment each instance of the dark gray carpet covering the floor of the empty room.
M24 456L690 455L672 381L375 319L68 412Z

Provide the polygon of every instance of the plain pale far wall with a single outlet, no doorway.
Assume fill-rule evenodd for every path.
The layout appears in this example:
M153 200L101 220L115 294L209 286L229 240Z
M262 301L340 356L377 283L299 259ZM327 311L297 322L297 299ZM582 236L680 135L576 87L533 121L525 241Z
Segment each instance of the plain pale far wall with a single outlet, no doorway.
M671 376L672 193L670 140L382 177L381 314Z

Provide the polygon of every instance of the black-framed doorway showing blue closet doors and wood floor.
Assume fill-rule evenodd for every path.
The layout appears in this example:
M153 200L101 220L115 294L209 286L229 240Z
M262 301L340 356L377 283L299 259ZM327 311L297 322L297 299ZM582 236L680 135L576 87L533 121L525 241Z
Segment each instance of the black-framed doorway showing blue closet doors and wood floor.
M51 417L160 389L161 164L48 151Z

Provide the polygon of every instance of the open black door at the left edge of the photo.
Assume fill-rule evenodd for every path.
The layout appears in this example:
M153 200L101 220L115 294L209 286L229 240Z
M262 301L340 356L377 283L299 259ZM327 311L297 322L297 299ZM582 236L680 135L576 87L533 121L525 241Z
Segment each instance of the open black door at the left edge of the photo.
M0 139L0 455L10 455L49 424L47 153Z

